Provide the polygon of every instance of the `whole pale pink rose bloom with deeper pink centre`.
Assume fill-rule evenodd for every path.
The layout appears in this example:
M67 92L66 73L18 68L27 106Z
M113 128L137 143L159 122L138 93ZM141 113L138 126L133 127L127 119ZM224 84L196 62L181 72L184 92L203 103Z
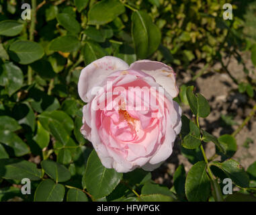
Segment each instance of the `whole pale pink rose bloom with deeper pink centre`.
M181 130L181 108L173 69L162 62L138 60L128 66L105 56L81 71L81 133L101 163L120 173L138 167L153 171L172 153Z

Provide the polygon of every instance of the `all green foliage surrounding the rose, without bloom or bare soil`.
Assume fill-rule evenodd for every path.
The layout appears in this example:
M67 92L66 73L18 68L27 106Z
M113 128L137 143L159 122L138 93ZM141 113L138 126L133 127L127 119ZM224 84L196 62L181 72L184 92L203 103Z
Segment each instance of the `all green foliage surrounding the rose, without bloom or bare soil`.
M256 65L255 3L243 17L249 1L32 0L24 2L32 6L31 20L21 19L20 1L0 3L1 201L222 201L224 177L241 188L225 200L255 201L255 163L247 174L230 159L234 136L216 138L194 123L210 107L193 87L181 86L176 99L196 116L183 116L181 131L181 151L195 165L187 175L177 167L173 187L154 183L141 169L105 169L80 133L84 103L77 94L81 69L105 55L128 64L151 58L182 70L198 62L210 67L228 55L247 74L239 53L250 50ZM224 3L234 3L234 19L222 19ZM254 96L253 80L234 81ZM202 142L214 142L222 161L208 163ZM25 177L32 195L20 192Z

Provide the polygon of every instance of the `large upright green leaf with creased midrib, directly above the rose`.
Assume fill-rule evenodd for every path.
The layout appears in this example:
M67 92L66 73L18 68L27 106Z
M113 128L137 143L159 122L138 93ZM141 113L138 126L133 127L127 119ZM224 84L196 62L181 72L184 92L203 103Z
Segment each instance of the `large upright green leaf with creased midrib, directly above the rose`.
M132 39L138 58L153 54L161 42L161 32L145 11L132 13Z

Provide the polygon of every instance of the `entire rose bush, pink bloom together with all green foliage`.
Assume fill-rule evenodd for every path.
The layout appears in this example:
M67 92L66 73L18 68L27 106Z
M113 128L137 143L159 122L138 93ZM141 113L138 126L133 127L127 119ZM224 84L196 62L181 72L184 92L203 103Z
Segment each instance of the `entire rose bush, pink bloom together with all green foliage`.
M224 3L232 3L232 20L222 19ZM241 55L250 51L256 66L255 39L243 32L254 32L251 3L0 0L0 12L0 201L255 201L256 162L245 171L245 161L232 159L244 158L235 155L243 146L253 148L249 138L243 146L236 141L243 127L253 128L248 122L256 112L256 82ZM171 64L179 96L172 69L136 61L145 58ZM228 71L233 58L243 65L243 79ZM207 119L218 99L209 105L198 77L209 78L216 62L235 84L225 87L227 98L241 97L239 91L246 102L233 110L236 99L227 99ZM173 99L184 108L175 155L180 109ZM249 114L243 122L241 108L243 118ZM169 155L157 171L143 170ZM226 177L236 186L228 195ZM30 194L22 193L23 179L31 181Z

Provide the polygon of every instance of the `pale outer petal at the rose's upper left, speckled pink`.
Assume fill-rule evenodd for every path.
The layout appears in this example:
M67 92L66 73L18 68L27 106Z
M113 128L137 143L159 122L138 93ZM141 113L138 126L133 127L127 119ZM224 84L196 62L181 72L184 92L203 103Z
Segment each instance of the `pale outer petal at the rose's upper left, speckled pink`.
M81 71L78 82L79 96L85 102L90 101L92 97L90 90L93 87L99 86L110 73L118 70L126 70L128 67L128 64L124 60L114 56L104 56L91 62Z

